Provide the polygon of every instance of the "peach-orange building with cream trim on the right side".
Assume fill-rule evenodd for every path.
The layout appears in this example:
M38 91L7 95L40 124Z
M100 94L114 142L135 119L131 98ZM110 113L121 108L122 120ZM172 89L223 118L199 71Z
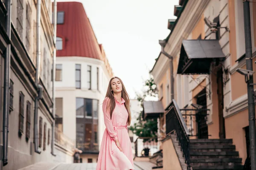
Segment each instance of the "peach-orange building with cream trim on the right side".
M236 72L237 68L246 68L243 1L180 0L175 15L176 20L168 21L171 33L163 49L173 57L174 99L186 124L184 131L190 139L232 139L229 142L235 147L236 163L232 162L230 168L243 165L250 148L247 85L244 76ZM256 3L250 3L250 23L255 71ZM151 71L166 110L156 116L160 118L164 170L183 167L174 141L166 136L172 129L172 121L166 120L173 106L170 62L160 53ZM255 80L255 74L253 77ZM174 147L169 147L172 143ZM190 159L198 166L193 161Z

